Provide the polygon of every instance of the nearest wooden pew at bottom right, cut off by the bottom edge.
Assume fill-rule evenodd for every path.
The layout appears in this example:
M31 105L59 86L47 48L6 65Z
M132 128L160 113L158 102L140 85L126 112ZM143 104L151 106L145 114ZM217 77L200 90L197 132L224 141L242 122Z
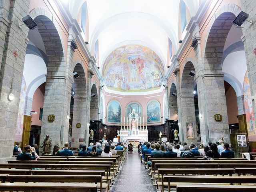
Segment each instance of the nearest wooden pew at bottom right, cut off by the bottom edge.
M256 192L252 185L183 185L177 184L177 192Z

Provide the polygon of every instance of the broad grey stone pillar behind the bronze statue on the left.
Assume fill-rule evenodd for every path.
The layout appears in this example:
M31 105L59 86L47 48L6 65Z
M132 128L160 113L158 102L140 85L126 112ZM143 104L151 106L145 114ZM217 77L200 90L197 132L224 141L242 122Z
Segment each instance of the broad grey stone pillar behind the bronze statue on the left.
M53 68L57 71L48 72L46 75L44 113L42 118L40 145L47 134L50 135L53 146L55 144L59 144L61 147L64 145L64 142L68 141L68 115L70 114L71 77L74 69L73 55L75 48L76 46L74 41L69 38L66 64L64 64L64 57L62 57L61 63L56 63L56 61L48 63L48 70L52 70L51 68ZM51 59L54 60L55 58L48 58L48 60ZM62 66L62 70L58 70L58 68L56 68L56 64ZM48 121L48 115L50 114L54 114L55 116L55 120L53 122Z

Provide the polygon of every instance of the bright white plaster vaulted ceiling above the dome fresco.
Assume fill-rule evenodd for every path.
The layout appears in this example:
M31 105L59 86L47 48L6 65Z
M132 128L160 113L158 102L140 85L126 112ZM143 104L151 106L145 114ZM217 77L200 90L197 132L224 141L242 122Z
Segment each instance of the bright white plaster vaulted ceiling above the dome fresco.
M168 38L174 54L178 49L178 22L180 0L62 0L74 19L84 2L88 9L89 50L99 42L101 67L104 58L115 48L126 44L142 44L156 52L167 67ZM190 16L199 7L198 0L184 0ZM188 24L189 21L187 21ZM150 46L148 46L150 45Z

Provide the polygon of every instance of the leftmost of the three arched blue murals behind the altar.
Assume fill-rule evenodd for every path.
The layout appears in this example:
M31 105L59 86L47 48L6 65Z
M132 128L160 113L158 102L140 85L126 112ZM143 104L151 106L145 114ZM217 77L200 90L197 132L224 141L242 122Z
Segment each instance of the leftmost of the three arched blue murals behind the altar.
M107 123L121 123L121 105L118 101L112 100L108 103Z

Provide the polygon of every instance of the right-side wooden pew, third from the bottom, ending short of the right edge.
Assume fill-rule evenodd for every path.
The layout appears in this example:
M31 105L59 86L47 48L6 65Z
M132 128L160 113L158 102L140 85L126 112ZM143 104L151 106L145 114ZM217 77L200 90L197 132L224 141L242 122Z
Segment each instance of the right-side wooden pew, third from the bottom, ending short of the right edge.
M160 183L161 175L161 185L164 186L164 176L166 175L175 175L175 174L201 174L201 175L229 175L234 174L234 169L219 169L219 168L159 168L158 169L158 183ZM194 176L191 176L192 178Z

